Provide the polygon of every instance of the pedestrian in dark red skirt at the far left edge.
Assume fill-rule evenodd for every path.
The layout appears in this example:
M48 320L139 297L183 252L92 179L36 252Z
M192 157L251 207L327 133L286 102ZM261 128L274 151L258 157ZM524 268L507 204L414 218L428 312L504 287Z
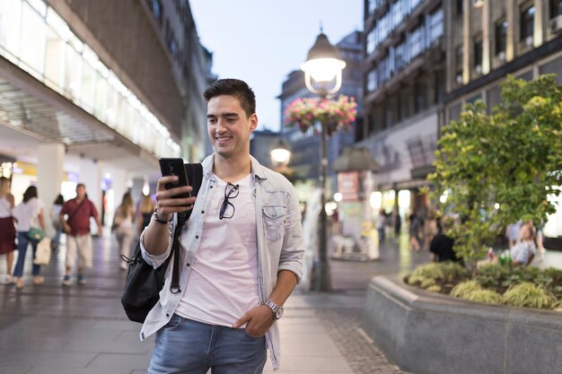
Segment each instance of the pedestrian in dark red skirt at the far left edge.
M12 209L13 195L10 194L10 179L0 177L0 255L6 255L6 284L14 283L12 265L16 245Z

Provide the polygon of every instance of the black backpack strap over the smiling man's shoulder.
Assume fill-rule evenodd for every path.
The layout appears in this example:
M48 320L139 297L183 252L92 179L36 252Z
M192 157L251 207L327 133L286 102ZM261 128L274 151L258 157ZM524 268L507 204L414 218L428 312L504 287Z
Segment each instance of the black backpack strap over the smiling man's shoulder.
M203 181L203 165L200 163L186 163L184 164L186 174L188 175L189 186L193 188L191 196L198 196L199 187ZM185 222L189 220L193 209L188 212L178 213L178 224L173 233L173 243L171 251L173 253L173 267L171 271L171 293L180 293L180 233L183 229Z

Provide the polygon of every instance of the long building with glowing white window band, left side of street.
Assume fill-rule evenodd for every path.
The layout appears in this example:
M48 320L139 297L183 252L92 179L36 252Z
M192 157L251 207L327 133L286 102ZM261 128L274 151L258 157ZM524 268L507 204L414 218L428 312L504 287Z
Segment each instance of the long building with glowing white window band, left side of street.
M158 158L198 161L210 65L187 1L0 1L0 158L16 202L35 184L48 212L83 181L110 216L158 178Z

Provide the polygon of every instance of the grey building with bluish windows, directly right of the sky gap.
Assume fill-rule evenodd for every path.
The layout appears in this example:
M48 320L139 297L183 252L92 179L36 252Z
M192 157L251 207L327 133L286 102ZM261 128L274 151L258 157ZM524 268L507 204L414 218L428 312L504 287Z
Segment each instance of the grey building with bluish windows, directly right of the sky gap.
M426 204L417 187L435 160L445 95L441 0L365 0L364 134L381 169L374 175L373 212ZM400 202L400 204L399 204Z

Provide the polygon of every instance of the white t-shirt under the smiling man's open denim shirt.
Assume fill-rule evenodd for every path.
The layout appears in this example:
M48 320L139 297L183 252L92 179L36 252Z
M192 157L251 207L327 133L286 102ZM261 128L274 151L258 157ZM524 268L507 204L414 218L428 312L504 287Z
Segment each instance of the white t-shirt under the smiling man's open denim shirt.
M229 199L234 205L233 216L220 220L226 183L216 180L201 244L176 313L209 325L232 326L259 305L253 181L248 175L233 183L239 185L238 196ZM229 206L225 215L230 216L232 209Z

